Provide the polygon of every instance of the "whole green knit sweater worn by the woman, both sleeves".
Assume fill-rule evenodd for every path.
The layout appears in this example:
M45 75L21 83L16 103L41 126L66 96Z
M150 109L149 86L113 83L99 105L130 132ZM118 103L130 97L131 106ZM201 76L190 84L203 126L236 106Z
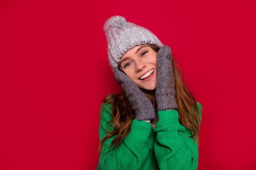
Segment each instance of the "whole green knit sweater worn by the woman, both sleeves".
M197 102L202 117L202 105ZM196 170L198 146L189 129L182 126L177 110L157 112L155 126L146 121L132 120L131 131L117 148L103 143L97 170ZM101 104L99 140L107 135L106 124L112 119L111 104ZM113 130L108 124L108 130Z

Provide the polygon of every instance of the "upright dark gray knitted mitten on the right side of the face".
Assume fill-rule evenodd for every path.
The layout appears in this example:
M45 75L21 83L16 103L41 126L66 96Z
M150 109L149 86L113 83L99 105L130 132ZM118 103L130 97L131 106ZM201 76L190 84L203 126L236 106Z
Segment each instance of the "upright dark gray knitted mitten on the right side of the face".
M172 52L169 46L163 46L157 52L157 84L155 98L157 111L176 110L175 77L173 75Z

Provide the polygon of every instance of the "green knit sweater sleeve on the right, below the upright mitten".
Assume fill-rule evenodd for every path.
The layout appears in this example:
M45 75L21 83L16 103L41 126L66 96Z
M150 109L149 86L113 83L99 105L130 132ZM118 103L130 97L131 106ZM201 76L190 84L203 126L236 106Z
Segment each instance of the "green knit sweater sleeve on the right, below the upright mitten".
M197 102L202 117L202 105ZM179 122L177 110L157 112L155 155L160 170L196 170L198 146L189 129Z

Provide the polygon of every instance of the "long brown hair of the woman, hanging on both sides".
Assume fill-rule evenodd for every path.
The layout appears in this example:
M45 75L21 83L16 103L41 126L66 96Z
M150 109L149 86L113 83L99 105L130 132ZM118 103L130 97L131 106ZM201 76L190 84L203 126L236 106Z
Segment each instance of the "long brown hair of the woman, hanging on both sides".
M159 47L153 44L148 44L155 52L159 50ZM175 76L175 98L178 105L179 121L182 126L188 128L192 134L191 137L195 140L199 146L199 126L202 121L200 117L200 111L198 109L195 97L185 86L180 66L177 64L174 57L172 57L173 74ZM124 138L129 134L131 130L132 120L135 115L132 111L132 107L126 98L125 93L122 91L118 94L110 94L102 101L105 104L112 104L112 117L107 124L112 123L113 131L108 131L107 136L103 137L99 142L98 152L101 152L103 142L116 137L112 140L110 147L116 148L121 144Z

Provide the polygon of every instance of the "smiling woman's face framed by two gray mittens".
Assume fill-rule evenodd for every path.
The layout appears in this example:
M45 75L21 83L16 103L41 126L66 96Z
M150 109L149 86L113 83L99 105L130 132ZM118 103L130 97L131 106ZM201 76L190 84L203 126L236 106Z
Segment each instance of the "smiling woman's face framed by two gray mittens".
M140 88L154 90L157 80L157 53L147 44L124 53L119 68Z

